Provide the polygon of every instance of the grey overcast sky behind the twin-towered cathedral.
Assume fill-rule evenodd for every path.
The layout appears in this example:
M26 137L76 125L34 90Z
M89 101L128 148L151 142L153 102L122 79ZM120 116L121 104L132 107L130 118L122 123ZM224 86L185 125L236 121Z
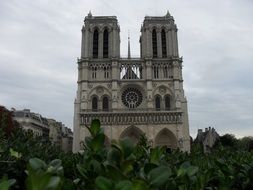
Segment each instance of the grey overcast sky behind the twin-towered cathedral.
M220 134L253 135L252 0L9 0L0 2L0 104L29 108L72 128L81 27L115 15L121 55L139 56L146 15L167 10L179 28L191 135L212 126Z

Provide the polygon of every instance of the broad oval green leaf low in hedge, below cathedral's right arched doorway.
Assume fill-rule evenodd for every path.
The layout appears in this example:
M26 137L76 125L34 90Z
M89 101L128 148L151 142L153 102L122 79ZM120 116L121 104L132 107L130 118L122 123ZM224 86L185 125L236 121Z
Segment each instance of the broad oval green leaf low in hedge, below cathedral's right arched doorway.
M159 166L148 174L150 184L154 187L161 187L171 176L171 169L166 166Z

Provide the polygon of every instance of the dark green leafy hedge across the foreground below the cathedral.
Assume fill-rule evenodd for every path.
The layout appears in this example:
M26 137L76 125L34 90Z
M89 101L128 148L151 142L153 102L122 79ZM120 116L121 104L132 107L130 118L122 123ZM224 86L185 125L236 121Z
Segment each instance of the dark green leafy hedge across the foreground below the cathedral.
M253 189L252 152L219 147L207 155L198 148L190 154L167 153L165 148L149 147L145 137L136 146L129 139L120 139L106 147L99 120L93 120L88 129L91 136L85 139L82 154L59 152L56 156L52 152L52 156L27 159L34 154L24 155L22 149L13 147L2 151L0 189ZM4 149L6 144L1 146ZM9 157L2 156L6 152ZM18 165L20 161L25 168Z

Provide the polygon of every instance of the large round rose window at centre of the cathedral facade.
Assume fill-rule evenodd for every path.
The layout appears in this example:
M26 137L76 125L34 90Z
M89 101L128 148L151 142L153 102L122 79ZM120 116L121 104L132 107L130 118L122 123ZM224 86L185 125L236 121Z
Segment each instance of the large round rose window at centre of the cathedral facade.
M136 108L142 102L142 93L136 88L127 88L121 96L123 104L128 108Z

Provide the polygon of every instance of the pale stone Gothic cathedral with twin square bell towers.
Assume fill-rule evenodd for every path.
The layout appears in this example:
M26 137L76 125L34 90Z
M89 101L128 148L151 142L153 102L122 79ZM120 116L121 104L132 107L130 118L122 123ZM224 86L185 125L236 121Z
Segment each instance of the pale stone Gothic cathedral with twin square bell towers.
M116 16L89 13L82 28L78 89L74 109L73 151L98 118L107 143L146 134L151 146L190 151L182 58L174 18L146 16L141 26L140 58L120 57Z

